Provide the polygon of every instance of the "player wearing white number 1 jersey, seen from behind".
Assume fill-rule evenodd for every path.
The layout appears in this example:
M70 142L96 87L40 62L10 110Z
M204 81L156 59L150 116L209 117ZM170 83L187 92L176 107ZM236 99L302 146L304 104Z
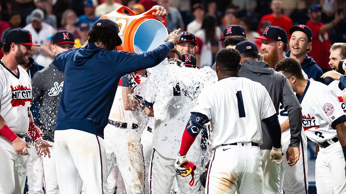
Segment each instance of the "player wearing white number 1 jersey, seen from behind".
M262 144L261 120L273 129L270 130L273 141L270 157L277 163L283 159L280 124L271 98L260 83L238 77L239 62L240 54L235 49L217 53L219 81L199 94L174 164L177 172L186 171L182 167L190 159L186 154L210 120L214 153L206 193L263 193L262 155L258 147Z

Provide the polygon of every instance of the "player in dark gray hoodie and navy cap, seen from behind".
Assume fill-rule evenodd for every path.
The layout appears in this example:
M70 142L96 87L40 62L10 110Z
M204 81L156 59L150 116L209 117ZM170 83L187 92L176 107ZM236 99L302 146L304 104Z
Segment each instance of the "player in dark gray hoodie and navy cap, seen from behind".
M289 111L286 111L286 115L287 115L286 117L290 116L291 118L291 122L289 123L289 126L291 126L292 130L291 130L291 133L290 132L286 133L288 137L287 137L287 141L285 142L285 145L283 145L282 141L281 141L281 144L283 145L282 146L283 152L286 153L286 158L289 159L288 163L290 165L288 165L288 163L285 163L285 164L287 166L293 166L293 165L296 166L297 164L295 163L299 161L298 159L300 158L300 153L302 153L299 149L300 142L301 142L300 134L301 134L301 128L302 128L301 107L292 91L292 87L290 86L289 81L282 74L274 71L274 69L272 68L269 68L269 65L266 62L257 61L258 50L257 50L257 45L254 42L244 41L244 42L238 43L236 46L236 49L240 52L240 56L242 57L242 59L240 60L240 62L242 63L242 69L240 69L239 71L239 76L246 77L248 79L261 83L270 94L277 114L279 114L280 103L285 105L286 109L289 110ZM283 105L282 107L284 107ZM273 181L273 182L264 183L265 193L271 193L271 190L269 190L268 188L275 188L276 193L278 193L279 190L277 190L277 188L279 188L281 178L280 176L277 176L277 175L280 175L280 171L276 171L276 170L277 170L277 167L279 166L277 166L276 164L273 164L272 162L267 162L267 160L265 159L267 158L266 155L268 155L270 152L269 148L272 146L271 145L272 143L269 138L268 130L269 129L266 127L266 125L262 123L262 134L263 134L263 145L261 146L261 152L263 154L262 167L263 169L268 169L268 171L263 171L264 180L275 180L275 182ZM281 139L283 138L281 137ZM283 163L281 163L281 165L283 165ZM299 168L302 169L302 166L299 166ZM279 172L279 174L277 174L277 172ZM290 177L290 180L292 179L293 177L292 178ZM302 182L302 184L304 188L304 182Z

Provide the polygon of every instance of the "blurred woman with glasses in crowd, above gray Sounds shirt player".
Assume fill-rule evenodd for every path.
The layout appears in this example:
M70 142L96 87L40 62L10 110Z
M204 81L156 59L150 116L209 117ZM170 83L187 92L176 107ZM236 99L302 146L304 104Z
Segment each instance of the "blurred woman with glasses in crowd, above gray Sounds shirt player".
M68 9L62 14L61 25L63 27L59 28L58 30L67 30L73 32L74 38L80 38L79 29L75 27L77 21L77 14L72 9Z

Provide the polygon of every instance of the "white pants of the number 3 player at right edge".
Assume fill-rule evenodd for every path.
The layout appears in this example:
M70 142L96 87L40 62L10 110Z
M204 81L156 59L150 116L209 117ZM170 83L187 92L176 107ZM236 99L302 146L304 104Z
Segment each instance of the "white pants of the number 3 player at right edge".
M345 158L340 142L320 147L315 175L317 193L346 193Z

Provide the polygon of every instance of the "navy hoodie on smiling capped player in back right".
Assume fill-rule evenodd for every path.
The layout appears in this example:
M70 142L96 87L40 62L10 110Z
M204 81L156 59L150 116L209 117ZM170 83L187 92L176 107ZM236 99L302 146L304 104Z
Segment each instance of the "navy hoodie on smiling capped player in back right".
M285 52L286 57L290 57L291 50ZM304 61L300 64L303 71L308 75L308 78L312 78L315 81L319 81L320 83L327 84L326 80L321 78L323 75L322 69L316 64L312 57L309 57L305 54Z

